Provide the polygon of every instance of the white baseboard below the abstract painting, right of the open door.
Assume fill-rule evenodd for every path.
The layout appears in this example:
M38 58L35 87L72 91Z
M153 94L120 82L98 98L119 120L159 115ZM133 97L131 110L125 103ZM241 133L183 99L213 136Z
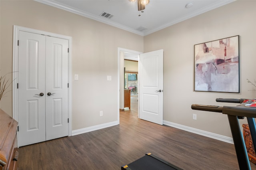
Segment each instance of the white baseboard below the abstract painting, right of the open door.
M217 140L220 140L220 141L223 141L223 142L234 144L233 138L230 138L228 136L223 136L223 135L220 135L220 134L207 132L207 131L204 131L204 130L200 130L200 129L196 129L196 128L192 128L192 127L187 127L187 126L184 126L184 125L179 125L177 123L172 123L172 122L168 122L168 121L163 121L163 124L167 125L167 126L170 126L170 127L185 130L185 131L188 131L188 132L192 132L192 133L195 133L195 134L200 134L202 136L206 136L206 137L209 137L209 138L217 139Z

